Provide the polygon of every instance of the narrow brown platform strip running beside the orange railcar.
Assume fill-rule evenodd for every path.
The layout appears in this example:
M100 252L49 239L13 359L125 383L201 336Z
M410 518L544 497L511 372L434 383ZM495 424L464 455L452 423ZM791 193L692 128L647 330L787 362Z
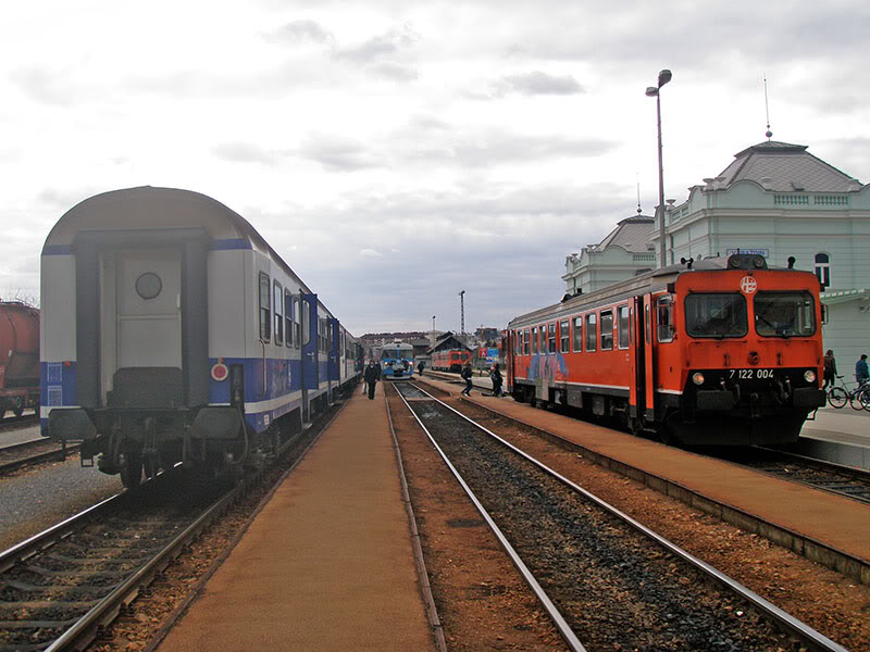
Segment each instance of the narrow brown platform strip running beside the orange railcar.
M427 381L453 394L460 391L456 385ZM870 561L870 507L862 503L531 408L510 398L497 399L475 391L468 400Z

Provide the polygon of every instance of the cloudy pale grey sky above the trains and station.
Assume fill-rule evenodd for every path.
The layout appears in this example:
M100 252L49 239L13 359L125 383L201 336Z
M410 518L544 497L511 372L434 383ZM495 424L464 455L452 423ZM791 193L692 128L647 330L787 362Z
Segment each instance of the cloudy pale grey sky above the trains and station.
M870 180L870 3L32 0L0 22L0 297L79 201L244 217L355 334L504 327L773 139Z

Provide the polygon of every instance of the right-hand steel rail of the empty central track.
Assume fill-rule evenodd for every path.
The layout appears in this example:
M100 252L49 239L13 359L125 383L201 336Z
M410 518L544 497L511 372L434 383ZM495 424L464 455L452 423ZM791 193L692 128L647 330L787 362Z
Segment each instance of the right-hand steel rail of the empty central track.
M418 388L418 389L420 389L420 388ZM671 554L680 557L681 560L685 561L686 563L691 564L692 566L694 566L695 568L700 570L707 577L709 577L709 578L713 579L714 581L719 582L720 585L726 587L729 590L731 590L732 592L736 593L737 595L739 595L741 598L743 598L744 600L746 600L747 602L753 604L759 611L761 611L762 613L767 614L768 617L772 618L778 625L783 627L786 631L788 631L790 634L793 634L794 636L797 636L804 642L806 642L809 645L811 645L813 650L820 650L820 651L823 651L823 652L848 652L848 650L846 648L844 648L843 645L841 645L840 643L836 643L836 642L832 641L831 639L829 639L828 637L825 637L824 635L816 631L812 627L810 627L806 623L803 623L803 622L798 620L797 618L795 618L794 616L792 616L787 612L781 610L775 604L769 602L768 600L766 600L765 598L762 598L761 595L759 595L755 591L751 591L750 589L747 589L746 587L741 585L738 581L732 579L731 577L729 577L724 573L718 570L717 568L714 568L713 566L709 565L708 563L706 563L706 562L699 560L698 557L689 554L688 552L686 552L685 550L683 550L682 548L680 548L675 543L669 541L668 539L666 539L661 535L655 532L654 530L649 529L648 527L646 527L642 523L635 521L634 518L632 518L631 516L629 516L624 512L618 510L617 507L614 507L610 503L608 503L605 500L598 498L597 496L595 496L594 493L587 491L586 489L583 489L583 487L580 487L579 485L576 485L573 481L569 480L568 478L566 478L564 476L562 476L558 472L556 472L556 471L549 468L548 466L546 466L545 464L543 464L542 462L538 462L537 460L535 460L534 457L532 457L531 455L529 455L524 451L521 451L519 448L517 448L515 446L513 446L509 441L506 441L505 439L502 439L501 437L499 437L495 432L492 432L490 430L488 430L486 427L475 423L473 419L469 418L468 416L465 416L464 414L462 414L461 412L459 412L455 408L448 405L447 403L444 403L443 401L439 401L435 397L432 397L432 394L428 394L428 392L426 392L423 389L420 389L420 391L423 391L424 393L430 396L433 401L438 402L439 404L444 405L445 408L447 408L451 412L453 412L457 415L461 416L463 419L465 419L472 426L483 430L484 432L486 432L487 435L493 437L496 441L499 441L500 443L502 443L509 450L515 452L520 456L524 457L525 460L527 460L529 462L531 462L532 464L534 464L535 466L540 468L540 471L543 471L544 473L546 473L546 474L550 475L551 477L558 479L559 481L563 482L567 487L570 487L572 490L576 491L577 493L580 493L584 498L588 499L589 501L592 501L593 503L598 505L600 509L605 510L609 514L616 516L617 518L619 518L620 521L622 521L626 525L631 526L636 531L638 531L642 535L652 539L656 543L661 546L664 550L667 550ZM406 401L406 403L407 403L407 401ZM409 405L409 410L410 410L410 405ZM417 416L417 415L414 415L414 416ZM420 423L419 418L418 418L418 423ZM421 426L422 426L422 423L421 423ZM430 438L431 438L431 436L430 436Z

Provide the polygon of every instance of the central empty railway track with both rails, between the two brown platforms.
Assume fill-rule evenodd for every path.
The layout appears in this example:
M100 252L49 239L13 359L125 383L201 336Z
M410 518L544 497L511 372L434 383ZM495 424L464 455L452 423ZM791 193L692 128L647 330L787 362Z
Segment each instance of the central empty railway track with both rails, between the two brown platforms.
M396 388L573 650L792 649L790 637L844 650L419 388Z

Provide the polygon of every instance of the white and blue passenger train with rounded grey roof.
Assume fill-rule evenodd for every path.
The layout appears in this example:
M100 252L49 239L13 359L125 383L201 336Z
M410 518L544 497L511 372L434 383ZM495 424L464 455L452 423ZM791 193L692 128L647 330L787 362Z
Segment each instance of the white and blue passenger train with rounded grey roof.
M240 215L132 188L71 209L42 249L44 435L136 486L216 475L301 430L360 376L353 336Z

